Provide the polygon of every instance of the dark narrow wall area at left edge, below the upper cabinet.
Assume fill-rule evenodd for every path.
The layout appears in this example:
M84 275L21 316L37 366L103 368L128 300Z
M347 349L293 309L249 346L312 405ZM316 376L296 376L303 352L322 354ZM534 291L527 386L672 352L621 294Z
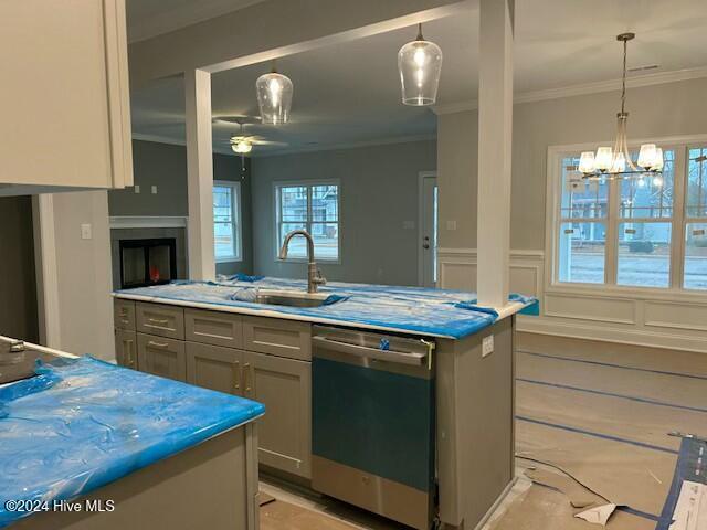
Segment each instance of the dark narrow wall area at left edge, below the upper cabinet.
M0 198L0 335L39 342L32 199Z

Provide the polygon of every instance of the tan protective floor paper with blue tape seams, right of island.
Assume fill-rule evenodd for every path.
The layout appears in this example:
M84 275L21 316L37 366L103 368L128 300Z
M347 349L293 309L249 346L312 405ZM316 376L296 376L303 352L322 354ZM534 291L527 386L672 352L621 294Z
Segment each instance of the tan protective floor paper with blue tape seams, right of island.
M680 446L667 433L707 437L707 356L521 337L530 351L517 358L518 455L550 463L627 505L633 511L616 511L610 530L655 529ZM517 462L537 467L527 471L536 484L494 530L601 528L574 518L581 510L570 504L600 497L552 467Z

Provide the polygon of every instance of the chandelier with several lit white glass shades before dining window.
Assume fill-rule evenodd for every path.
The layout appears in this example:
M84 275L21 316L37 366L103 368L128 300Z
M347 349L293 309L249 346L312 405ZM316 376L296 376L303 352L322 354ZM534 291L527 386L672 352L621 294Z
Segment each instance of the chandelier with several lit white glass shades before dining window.
M621 112L616 114L616 140L614 147L600 147L597 153L582 152L579 170L582 178L588 180L604 179L639 179L653 178L653 183L663 183L663 149L655 144L643 144L639 151L639 159L634 163L629 153L626 140L626 121L629 113L626 104L626 47L635 33L622 33L616 40L623 43L623 76L621 78Z

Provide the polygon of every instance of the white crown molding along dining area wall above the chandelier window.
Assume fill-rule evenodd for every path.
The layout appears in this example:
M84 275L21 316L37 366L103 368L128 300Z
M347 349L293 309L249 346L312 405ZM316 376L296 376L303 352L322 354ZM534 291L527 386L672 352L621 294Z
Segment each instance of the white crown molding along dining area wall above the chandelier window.
M642 86L662 85L666 83L677 83L680 81L699 80L707 77L707 66L697 68L675 70L673 72L656 72L653 74L629 77L626 86L629 88L637 88ZM546 88L542 91L532 91L519 93L514 96L514 104L544 102L548 99L559 99L562 97L584 96L588 94L599 94L602 92L613 92L621 89L621 80L598 81L593 83L583 83L580 85L570 85L560 88ZM475 110L478 108L477 99L468 99L465 102L446 103L434 105L432 112L436 115L463 113Z

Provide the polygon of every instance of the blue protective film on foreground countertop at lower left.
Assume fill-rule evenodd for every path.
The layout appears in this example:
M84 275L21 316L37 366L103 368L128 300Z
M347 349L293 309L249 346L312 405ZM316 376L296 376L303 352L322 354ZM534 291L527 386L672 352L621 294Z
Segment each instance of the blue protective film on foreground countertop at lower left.
M265 412L264 405L89 357L0 386L0 528L8 500L70 500Z

